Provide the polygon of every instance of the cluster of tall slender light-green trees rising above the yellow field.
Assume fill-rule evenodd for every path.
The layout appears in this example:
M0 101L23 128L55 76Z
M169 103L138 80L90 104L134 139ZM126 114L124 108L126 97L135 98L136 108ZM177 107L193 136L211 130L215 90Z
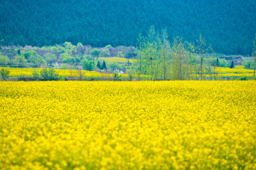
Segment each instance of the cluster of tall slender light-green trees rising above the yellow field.
M157 33L154 26L146 37L139 36L134 68L138 76L146 75L147 80L216 79L219 59L201 34L196 43L174 37L174 43L170 44L168 39L166 29Z

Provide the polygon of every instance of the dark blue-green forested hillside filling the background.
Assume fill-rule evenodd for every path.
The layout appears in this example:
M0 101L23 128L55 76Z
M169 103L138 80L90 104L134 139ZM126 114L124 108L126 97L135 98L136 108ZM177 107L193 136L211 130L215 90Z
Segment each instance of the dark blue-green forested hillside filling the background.
M255 0L1 0L1 45L82 42L136 46L151 25L194 42L199 34L218 53L250 55Z

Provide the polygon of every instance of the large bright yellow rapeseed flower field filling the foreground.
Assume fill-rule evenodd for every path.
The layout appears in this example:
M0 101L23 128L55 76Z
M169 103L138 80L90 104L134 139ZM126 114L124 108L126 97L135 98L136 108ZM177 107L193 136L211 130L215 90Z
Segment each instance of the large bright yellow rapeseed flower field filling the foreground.
M0 82L0 170L256 170L256 81Z

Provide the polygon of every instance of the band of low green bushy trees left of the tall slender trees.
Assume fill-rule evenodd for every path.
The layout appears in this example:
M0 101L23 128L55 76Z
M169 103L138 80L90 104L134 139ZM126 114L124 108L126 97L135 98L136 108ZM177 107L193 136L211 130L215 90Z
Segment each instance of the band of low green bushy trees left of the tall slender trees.
M111 45L94 48L82 45L81 42L77 45L64 42L44 47L2 47L0 48L0 67L104 70L110 73L118 69L125 72L127 65L131 63L128 62L127 65L115 62L106 64L104 58L130 59L136 56L135 49L135 47L125 46L114 48Z

